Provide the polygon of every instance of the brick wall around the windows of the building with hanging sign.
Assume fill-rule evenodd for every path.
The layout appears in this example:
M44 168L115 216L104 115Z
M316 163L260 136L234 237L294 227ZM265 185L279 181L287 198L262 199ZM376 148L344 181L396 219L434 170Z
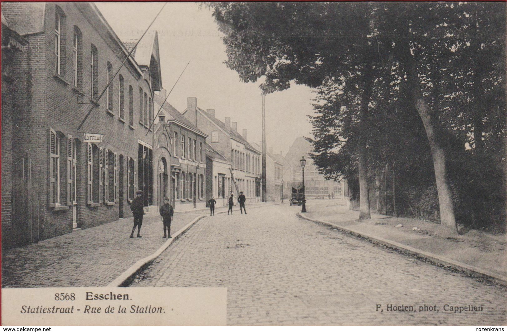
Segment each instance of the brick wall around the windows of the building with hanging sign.
M19 5L19 6L18 6ZM23 15L15 14L23 4L4 8L4 15L19 20L17 26L23 22L29 23L39 18L34 11L23 11ZM31 8L27 5L27 8ZM81 228L93 227L118 219L119 217L119 188L117 189L117 202L114 205L101 204L91 207L87 204L87 145L83 142L83 133L102 133L103 141L96 143L105 149L117 153L118 175L120 174L120 156L133 158L137 161L138 139L153 145L153 132L145 136L147 125L139 123L139 88L146 92L153 100L150 82L144 80L142 74L132 64L121 68L120 74L124 79L124 118L119 118L119 79L113 81L113 109L112 113L106 110L106 98L99 100L98 106L94 107L84 126L78 131L78 126L92 106L90 104L90 53L91 44L98 51L98 90L99 93L107 84L106 64L111 62L113 72L116 72L121 64L118 56L122 54L120 46L110 38L110 34L102 25L99 18L86 3L59 3L65 15L62 25L62 48L61 73L54 75L54 26L55 4L45 4L46 15L44 17L44 31L41 33L25 35L29 41L25 54L20 54L15 59L19 68L16 80L16 116L13 119L19 125L14 134L14 155L28 153L32 161L41 168L40 183L42 183L42 214L43 225L41 238L50 238L56 235L71 232L73 229L72 208L57 210L47 207L49 202L49 130L52 128L64 136L71 135L77 142L77 219ZM14 14L13 14L14 13ZM20 22L21 21L21 22ZM82 32L82 80L81 84L74 88L73 72L73 38L74 26ZM129 86L133 88L133 126L129 126ZM25 92L25 93L23 93ZM81 95L85 96L82 97ZM65 155L60 156L62 176L66 174ZM124 175L127 176L126 163L123 164ZM137 162L136 162L137 168ZM4 170L4 165L2 167ZM4 174L2 174L4 175ZM156 181L156 179L155 179ZM119 185L119 181L118 181ZM129 217L130 209L127 202L127 180L124 180L124 214ZM3 188L4 191L4 188ZM66 187L62 182L61 197L65 197ZM67 202L62 199L63 205ZM4 220L3 220L4 222ZM7 227L7 226L6 226ZM7 229L7 228L6 228ZM5 238L4 238L5 240Z

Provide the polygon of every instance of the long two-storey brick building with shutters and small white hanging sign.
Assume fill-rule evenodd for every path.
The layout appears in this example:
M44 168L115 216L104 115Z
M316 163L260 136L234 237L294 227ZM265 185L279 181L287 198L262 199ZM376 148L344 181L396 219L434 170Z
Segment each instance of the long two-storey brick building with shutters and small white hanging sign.
M154 91L162 89L157 34L122 66L129 49L93 3L3 3L2 14L27 42L8 61L16 68L15 92L11 107L2 108L3 119L12 120L2 128L12 137L2 145L2 175L13 179L3 243L129 217L137 189L144 205L153 205L157 152L149 127Z

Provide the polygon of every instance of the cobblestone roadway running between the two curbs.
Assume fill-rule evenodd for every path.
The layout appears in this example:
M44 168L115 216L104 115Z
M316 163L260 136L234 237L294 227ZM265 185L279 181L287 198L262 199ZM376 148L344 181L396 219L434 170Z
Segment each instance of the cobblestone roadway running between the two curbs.
M506 323L501 287L302 220L299 210L284 204L206 217L132 286L227 287L229 325ZM425 305L439 311L419 312Z

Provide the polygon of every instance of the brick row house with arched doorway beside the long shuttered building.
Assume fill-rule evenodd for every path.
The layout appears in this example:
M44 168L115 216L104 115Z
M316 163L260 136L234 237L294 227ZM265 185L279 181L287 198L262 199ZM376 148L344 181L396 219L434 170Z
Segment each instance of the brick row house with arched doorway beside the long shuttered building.
M155 94L160 116L156 123L156 145L162 147L155 156L158 169L157 204L168 197L176 211L206 207L206 134L199 130L171 104L164 102L166 91ZM164 148L166 147L166 148ZM169 180L170 175L170 180Z

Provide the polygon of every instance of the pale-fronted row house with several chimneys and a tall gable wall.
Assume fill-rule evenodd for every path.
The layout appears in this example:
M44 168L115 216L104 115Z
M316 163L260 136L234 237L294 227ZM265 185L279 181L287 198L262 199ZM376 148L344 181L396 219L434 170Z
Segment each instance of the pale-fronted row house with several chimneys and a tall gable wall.
M237 123L231 118L222 122L215 118L214 109L206 111L197 107L197 98L187 99L187 109L183 115L208 135L207 142L214 150L224 156L230 163L228 176L231 183L227 196L234 193L236 197L243 192L247 202L259 202L261 196L261 153L237 132ZM225 178L225 177L224 177ZM212 186L213 183L209 183ZM219 196L221 198L221 196Z

